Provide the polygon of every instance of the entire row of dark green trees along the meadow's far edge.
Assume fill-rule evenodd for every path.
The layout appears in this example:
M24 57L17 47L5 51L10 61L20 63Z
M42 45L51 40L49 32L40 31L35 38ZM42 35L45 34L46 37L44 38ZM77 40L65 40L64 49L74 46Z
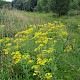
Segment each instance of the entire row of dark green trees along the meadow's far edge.
M0 6L2 2L0 0ZM80 0L13 0L11 5L19 10L54 12L59 16L66 15L71 9L80 10Z

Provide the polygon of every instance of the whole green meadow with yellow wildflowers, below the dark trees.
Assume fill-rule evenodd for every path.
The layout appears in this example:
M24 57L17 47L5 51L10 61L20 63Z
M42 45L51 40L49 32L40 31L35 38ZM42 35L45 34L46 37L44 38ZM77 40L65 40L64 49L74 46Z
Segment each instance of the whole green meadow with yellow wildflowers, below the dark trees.
M1 80L80 80L80 15L0 10Z

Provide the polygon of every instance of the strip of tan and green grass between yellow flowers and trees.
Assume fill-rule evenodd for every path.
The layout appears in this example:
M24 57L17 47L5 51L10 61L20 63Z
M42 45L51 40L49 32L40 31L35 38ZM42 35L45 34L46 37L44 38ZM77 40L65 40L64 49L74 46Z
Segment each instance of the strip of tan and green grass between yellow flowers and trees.
M63 16L58 17L56 14L45 14L45 13L31 13L17 10L1 10L0 12L0 24L5 27L0 29L0 32L5 36L13 36L18 31L27 29L28 25L31 24L43 24L54 21L61 21L66 23L70 30L75 30L80 25L80 15L77 16ZM0 36L2 36L0 34Z

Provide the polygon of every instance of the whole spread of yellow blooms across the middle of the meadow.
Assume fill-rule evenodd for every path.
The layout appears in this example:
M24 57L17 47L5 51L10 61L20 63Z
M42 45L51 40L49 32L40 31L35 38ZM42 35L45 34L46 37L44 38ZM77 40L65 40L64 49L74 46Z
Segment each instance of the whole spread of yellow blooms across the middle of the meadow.
M5 43L3 51L5 54L11 53L14 64L25 60L26 65L31 65L31 69L34 70L34 76L44 75L45 79L51 79L52 73L44 72L43 68L46 69L47 64L53 64L56 45L60 40L63 43L67 35L65 25L55 21L43 25L31 25L27 30L18 32L12 39L8 37L5 41L0 39L0 43ZM69 52L71 49L71 46L67 46L64 51Z

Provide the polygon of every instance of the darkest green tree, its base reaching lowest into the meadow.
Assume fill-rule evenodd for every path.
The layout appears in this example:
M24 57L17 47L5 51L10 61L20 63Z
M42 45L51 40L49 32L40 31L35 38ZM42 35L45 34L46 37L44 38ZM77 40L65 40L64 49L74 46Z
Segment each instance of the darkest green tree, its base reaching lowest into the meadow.
M69 10L70 0L55 0L55 12L61 15L66 15Z

